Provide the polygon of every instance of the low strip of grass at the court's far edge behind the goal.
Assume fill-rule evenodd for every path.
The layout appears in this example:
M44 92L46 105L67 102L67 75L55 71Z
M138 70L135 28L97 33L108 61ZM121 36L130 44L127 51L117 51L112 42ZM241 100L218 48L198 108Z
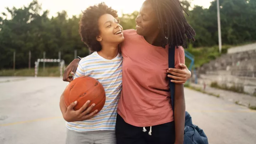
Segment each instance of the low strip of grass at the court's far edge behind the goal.
M0 76L34 76L34 68L31 69L4 69L0 70ZM43 71L43 67L39 67L37 76L60 76L58 66L46 67Z

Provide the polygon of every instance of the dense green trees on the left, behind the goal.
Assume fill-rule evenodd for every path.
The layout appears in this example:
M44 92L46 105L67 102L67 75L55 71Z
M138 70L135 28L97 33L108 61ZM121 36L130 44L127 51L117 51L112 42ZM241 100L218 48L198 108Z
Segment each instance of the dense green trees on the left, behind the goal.
M62 59L70 62L74 59L74 50L85 57L88 50L79 37L79 17L67 18L65 11L57 17L48 18L48 11L41 11L37 1L20 9L7 8L11 19L0 17L0 69L11 68L13 52L16 52L16 68L28 66L28 53L31 51L31 65L38 58Z

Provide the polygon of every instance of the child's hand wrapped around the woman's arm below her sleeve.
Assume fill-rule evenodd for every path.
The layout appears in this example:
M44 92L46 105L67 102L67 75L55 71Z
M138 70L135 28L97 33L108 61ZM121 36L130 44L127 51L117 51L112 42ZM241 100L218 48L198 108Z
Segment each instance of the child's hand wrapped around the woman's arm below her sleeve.
M171 80L171 82L174 82L176 84L184 84L188 79L191 77L191 72L188 70L187 66L185 64L179 64L181 69L174 69L169 68L167 70L167 75L169 78L172 78L174 80ZM172 74L172 75L170 75Z

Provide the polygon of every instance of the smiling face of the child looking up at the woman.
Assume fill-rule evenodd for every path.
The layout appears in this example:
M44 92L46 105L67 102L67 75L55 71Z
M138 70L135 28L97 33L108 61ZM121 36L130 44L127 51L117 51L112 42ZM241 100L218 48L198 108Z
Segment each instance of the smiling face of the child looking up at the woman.
M124 41L123 27L116 18L110 14L104 14L98 19L100 34L96 37L101 43L121 43Z

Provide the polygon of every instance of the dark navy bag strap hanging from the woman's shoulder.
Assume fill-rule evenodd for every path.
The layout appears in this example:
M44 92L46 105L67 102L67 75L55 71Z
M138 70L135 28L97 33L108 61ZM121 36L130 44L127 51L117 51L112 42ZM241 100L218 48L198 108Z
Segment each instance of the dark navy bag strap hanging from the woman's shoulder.
M174 66L175 66L175 46L169 46L168 63L169 63L169 68L174 68ZM175 83L171 82L171 80L173 80L173 79L169 78L170 93L171 93L171 105L172 105L172 110L174 112L174 87L175 87Z

